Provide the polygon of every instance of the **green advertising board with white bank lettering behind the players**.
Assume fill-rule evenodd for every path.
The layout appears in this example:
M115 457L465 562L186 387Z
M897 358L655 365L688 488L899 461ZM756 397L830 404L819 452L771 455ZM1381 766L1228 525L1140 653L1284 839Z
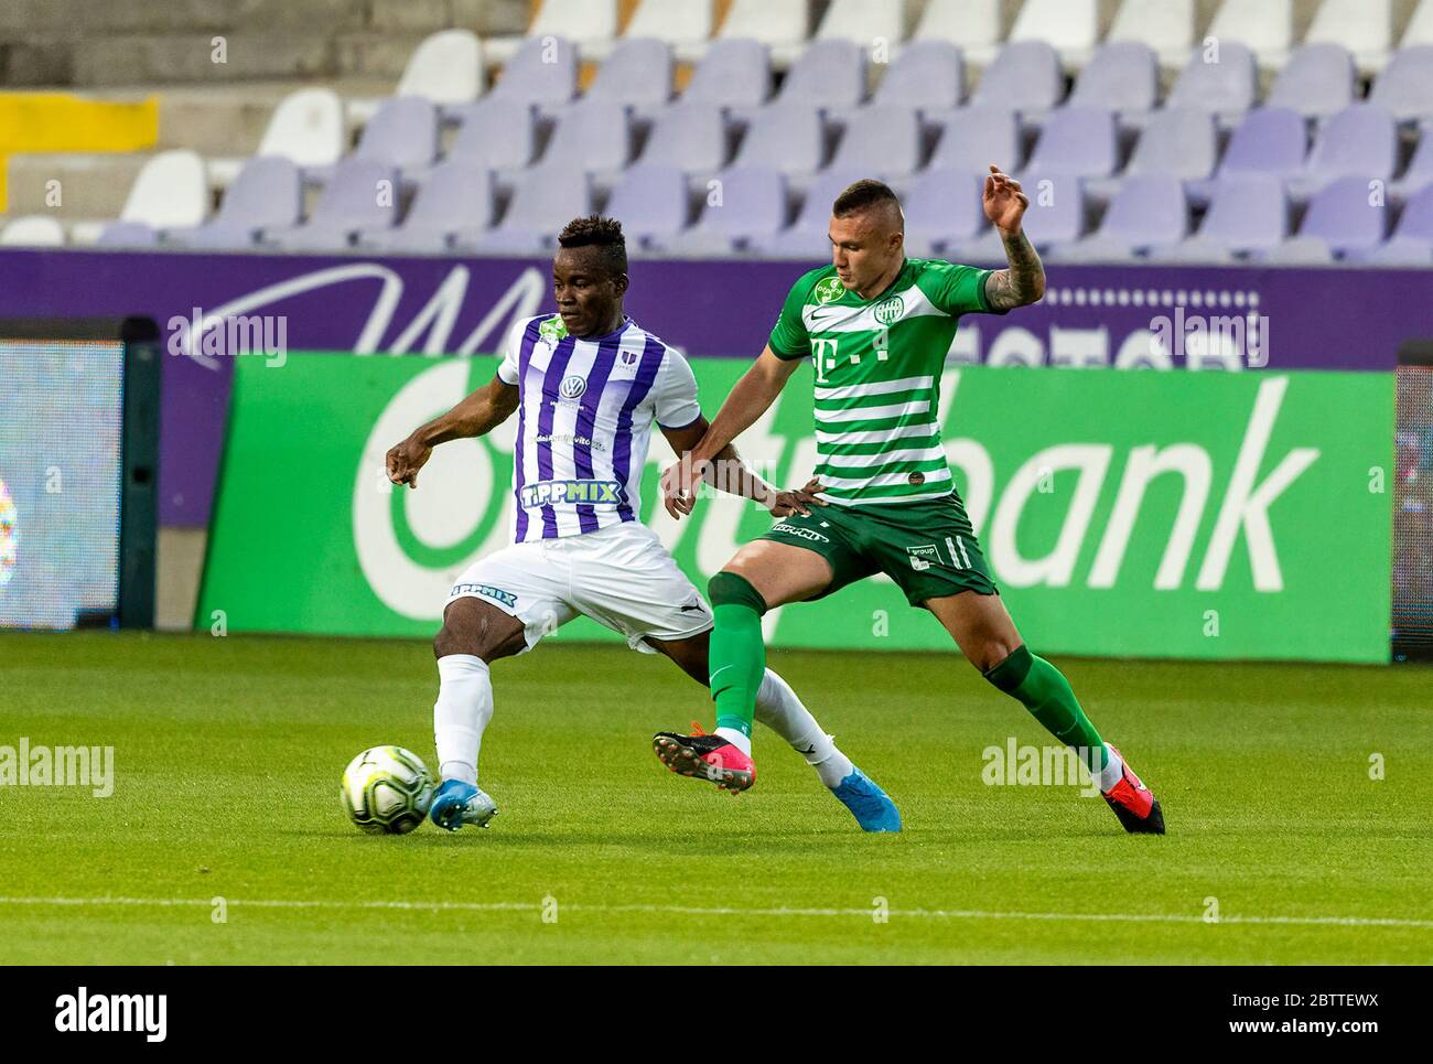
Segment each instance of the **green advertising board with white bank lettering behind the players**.
M745 364L692 360L711 417ZM431 635L447 589L507 543L516 419L434 452L417 490L384 453L496 358L239 360L196 627ZM815 465L811 371L739 440L770 480ZM956 483L1040 652L1387 661L1393 376L950 367ZM768 525L708 495L675 522L653 434L642 515L698 586ZM946 648L886 576L771 611L772 645ZM579 619L553 638L608 638Z

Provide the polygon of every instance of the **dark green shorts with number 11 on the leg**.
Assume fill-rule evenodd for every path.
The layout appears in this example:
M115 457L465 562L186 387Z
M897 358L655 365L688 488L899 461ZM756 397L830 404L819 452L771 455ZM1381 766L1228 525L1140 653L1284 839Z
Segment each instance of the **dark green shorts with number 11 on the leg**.
M811 598L825 598L877 572L896 581L913 607L962 591L1000 594L954 492L924 502L817 506L807 516L782 518L761 538L825 558L831 582Z

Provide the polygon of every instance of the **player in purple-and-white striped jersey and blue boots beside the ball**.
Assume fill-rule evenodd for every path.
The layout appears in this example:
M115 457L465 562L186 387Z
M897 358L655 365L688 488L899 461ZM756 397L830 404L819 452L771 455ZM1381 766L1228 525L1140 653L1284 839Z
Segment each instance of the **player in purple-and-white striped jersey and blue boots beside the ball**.
M418 486L440 443L481 436L517 414L513 542L463 572L433 642L438 697L433 733L443 783L430 817L440 827L486 827L497 804L477 786L483 731L493 716L489 667L532 650L577 615L665 654L706 685L712 614L656 533L639 521L639 485L652 427L676 453L696 446L706 419L696 379L679 351L632 321L626 244L610 218L577 218L557 238L557 313L509 331L497 374L387 456L388 478ZM732 447L716 456L724 490L755 499L777 518L810 513L808 483L777 490ZM729 473L729 475L728 475ZM676 503L669 503L669 509ZM900 830L900 813L837 747L770 668L755 718L785 738L868 832ZM721 782L721 767L712 767Z

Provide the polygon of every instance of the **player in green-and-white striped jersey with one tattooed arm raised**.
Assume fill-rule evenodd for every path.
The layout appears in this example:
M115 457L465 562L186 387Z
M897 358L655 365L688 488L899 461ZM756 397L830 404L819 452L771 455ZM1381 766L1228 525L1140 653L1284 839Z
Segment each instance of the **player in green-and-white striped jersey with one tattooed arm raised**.
M662 478L668 510L689 513L712 459L813 360L825 505L781 519L712 576L716 731L661 733L653 749L684 776L749 787L752 706L765 668L761 615L884 572L913 607L934 614L986 680L1078 751L1125 830L1162 835L1154 794L1101 738L1065 675L1016 631L950 479L937 397L960 315L1005 314L1045 293L1019 182L992 166L983 201L1005 244L1005 270L906 258L900 202L878 181L837 196L831 265L792 285L761 357L696 447Z

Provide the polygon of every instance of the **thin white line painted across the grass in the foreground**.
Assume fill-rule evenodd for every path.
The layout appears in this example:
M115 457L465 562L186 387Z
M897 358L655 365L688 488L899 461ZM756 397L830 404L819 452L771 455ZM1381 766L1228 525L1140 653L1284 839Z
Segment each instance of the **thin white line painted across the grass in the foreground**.
M208 898L0 898L3 905L34 906L106 906L136 905L156 908L205 906L212 908ZM279 899L279 898L225 898L225 905L248 909L380 909L414 912L540 912L539 902L380 902L380 901L337 901L337 899ZM649 912L681 916L864 916L868 909L802 909L802 908L738 908L698 905L582 905L566 903L563 912L623 913ZM1403 919L1394 916L1219 916L1207 921L1188 913L1139 913L1139 912L992 912L984 909L888 909L890 916L913 919L973 919L973 921L1092 921L1101 923L1270 923L1295 926L1340 926L1340 928L1430 928L1433 919Z

